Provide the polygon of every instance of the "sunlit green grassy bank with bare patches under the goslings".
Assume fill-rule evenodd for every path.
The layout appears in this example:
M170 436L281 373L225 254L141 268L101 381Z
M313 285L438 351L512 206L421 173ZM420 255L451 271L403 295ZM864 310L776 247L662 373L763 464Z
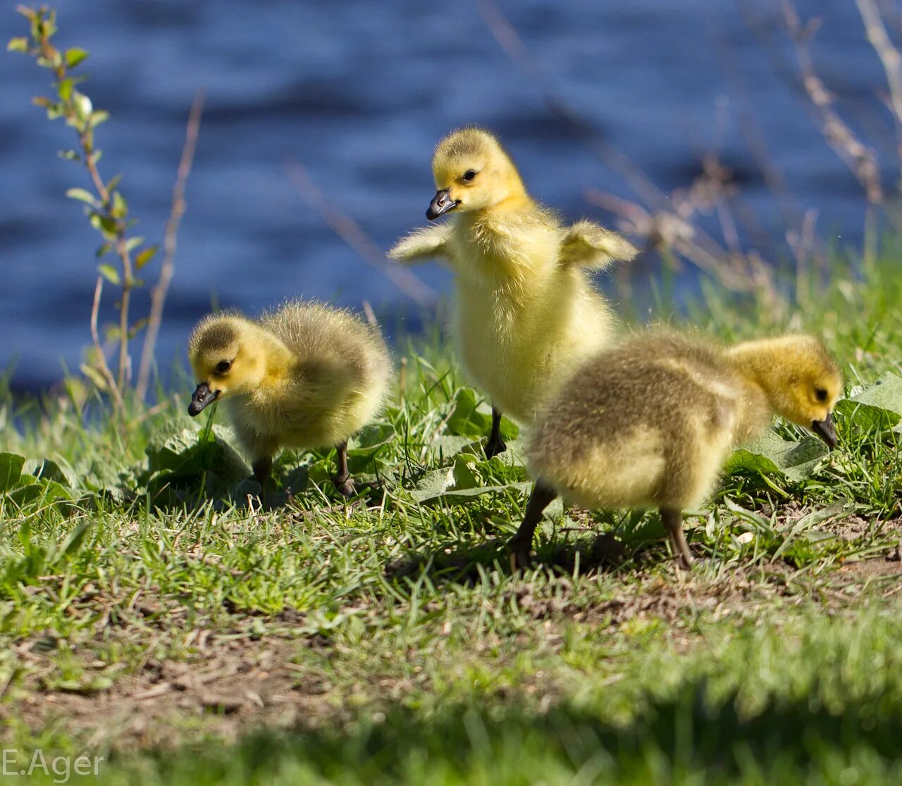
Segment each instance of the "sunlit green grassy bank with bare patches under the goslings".
M709 292L689 321L822 333L854 395L902 361L888 260L792 307ZM725 477L687 517L691 574L654 514L558 507L511 575L516 443L485 461L446 349L399 353L350 506L328 453L284 455L261 502L187 380L124 434L72 386L5 396L0 451L56 464L0 499L3 747L104 755L103 783L899 782L894 421L850 407L797 480Z

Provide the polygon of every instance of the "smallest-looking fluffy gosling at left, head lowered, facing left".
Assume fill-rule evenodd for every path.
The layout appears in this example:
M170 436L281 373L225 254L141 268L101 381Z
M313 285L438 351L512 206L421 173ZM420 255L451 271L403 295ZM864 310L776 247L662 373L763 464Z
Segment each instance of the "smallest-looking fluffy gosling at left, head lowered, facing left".
M280 448L335 445L333 482L354 494L347 440L378 415L389 386L391 359L377 330L350 312L296 301L260 319L209 315L188 352L198 379L188 414L224 399L260 483Z

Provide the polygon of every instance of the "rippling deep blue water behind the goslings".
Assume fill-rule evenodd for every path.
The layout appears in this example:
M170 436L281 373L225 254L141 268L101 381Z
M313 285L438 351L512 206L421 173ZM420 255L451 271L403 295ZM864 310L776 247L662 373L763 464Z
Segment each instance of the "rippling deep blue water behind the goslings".
M773 21L778 6L744 4L761 21L762 39L742 5L502 0L501 7L557 94L662 191L686 186L716 142L741 187L740 212L753 216L756 247L776 257L786 226L741 133L757 129L797 204L818 212L824 233L855 242L861 189L781 76L793 60ZM85 92L112 114L98 131L101 169L106 178L124 173L124 195L149 240L161 238L169 214L192 97L201 87L207 93L159 345L164 367L182 358L191 325L211 302L253 312L292 295L348 306L365 298L387 319L415 313L299 197L286 177L288 157L382 249L425 222L432 149L463 123L499 133L533 193L566 215L611 223L585 201L589 187L630 197L504 54L474 0L60 0L58 7L60 45L90 50ZM854 3L798 7L803 16L824 15L814 45L819 72L853 126L892 161L892 126L875 95L882 72ZM4 37L24 30L13 8L0 10ZM889 22L898 32L897 17ZM47 72L23 55L0 56L0 369L14 365L17 388L59 379L62 364L77 367L89 342L97 238L78 203L63 196L86 185L76 164L56 156L72 146L70 130L30 105L47 83ZM147 270L153 278L155 265ZM435 264L418 273L439 293L450 286ZM691 267L684 275L694 275ZM146 302L140 295L135 307ZM115 318L111 309L106 318Z

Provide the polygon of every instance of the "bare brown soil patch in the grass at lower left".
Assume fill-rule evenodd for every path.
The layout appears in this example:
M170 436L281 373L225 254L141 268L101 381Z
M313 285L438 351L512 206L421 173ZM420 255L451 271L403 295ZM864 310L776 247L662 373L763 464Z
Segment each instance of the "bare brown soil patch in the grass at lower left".
M266 637L199 642L191 663L149 661L141 672L115 680L107 690L43 690L47 659L22 652L28 676L14 701L0 705L0 718L16 717L33 730L61 722L88 746L115 740L119 750L178 745L195 731L235 738L250 727L289 727L304 718L335 717L327 685L291 661L309 640Z

